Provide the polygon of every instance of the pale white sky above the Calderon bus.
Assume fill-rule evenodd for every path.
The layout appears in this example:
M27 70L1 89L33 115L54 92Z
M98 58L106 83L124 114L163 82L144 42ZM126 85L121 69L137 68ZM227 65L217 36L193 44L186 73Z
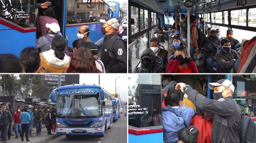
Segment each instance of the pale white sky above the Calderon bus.
M118 78L120 77L120 78ZM100 74L100 85L111 94L119 93L121 100L127 101L128 77L127 74ZM80 74L80 84L99 84L99 74L86 73Z

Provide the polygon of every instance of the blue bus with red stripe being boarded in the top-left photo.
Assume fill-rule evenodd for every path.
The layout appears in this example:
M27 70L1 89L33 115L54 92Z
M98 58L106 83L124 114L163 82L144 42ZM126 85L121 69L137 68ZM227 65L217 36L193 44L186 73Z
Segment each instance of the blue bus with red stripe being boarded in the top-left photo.
M73 47L73 41L78 39L77 29L84 25L90 28L90 40L99 46L103 44L104 35L99 19L108 18L109 5L106 0L49 1L54 7L61 34L69 46ZM35 40L39 38L36 36L36 19L42 13L42 9L35 8L34 0L3 0L0 3L0 53L19 57L25 47L35 47Z

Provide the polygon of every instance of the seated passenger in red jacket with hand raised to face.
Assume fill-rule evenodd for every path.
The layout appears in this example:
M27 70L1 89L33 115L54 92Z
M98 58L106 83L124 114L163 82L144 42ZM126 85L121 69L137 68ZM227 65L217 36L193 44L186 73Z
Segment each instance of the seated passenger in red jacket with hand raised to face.
M168 62L167 73L198 73L194 60L188 58L186 52L184 46L175 49L175 59Z

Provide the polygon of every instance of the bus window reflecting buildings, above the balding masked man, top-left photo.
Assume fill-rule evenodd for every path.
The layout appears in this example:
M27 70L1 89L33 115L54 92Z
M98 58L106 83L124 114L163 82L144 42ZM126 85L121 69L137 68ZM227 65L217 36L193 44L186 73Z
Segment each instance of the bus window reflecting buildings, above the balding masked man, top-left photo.
M90 6L86 0L67 0L67 24L99 22L100 19L106 18L108 18L106 3L93 0Z

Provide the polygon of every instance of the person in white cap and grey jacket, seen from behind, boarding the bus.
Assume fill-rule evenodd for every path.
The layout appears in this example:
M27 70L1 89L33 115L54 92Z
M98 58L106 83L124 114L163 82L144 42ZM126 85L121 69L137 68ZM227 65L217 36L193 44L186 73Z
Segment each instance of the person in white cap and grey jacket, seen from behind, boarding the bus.
M54 37L56 35L61 35L61 28L57 23L47 23L46 27L48 28L47 35L41 36L35 41L36 48L40 49L40 52L49 51Z

